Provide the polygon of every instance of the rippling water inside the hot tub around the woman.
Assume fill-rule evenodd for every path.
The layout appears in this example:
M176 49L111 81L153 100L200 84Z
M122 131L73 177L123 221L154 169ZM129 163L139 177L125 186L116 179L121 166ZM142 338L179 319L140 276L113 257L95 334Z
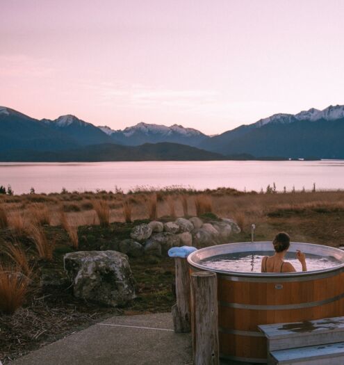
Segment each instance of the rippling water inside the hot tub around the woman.
M215 270L238 271L240 273L260 273L261 260L264 256L272 256L273 251L252 251L252 252L235 252L231 254L221 254L202 260L200 263L208 268ZM287 252L284 261L293 264L295 270L302 271L299 260L295 257L295 252ZM307 270L324 270L333 268L343 263L334 257L318 256L316 254L306 254Z

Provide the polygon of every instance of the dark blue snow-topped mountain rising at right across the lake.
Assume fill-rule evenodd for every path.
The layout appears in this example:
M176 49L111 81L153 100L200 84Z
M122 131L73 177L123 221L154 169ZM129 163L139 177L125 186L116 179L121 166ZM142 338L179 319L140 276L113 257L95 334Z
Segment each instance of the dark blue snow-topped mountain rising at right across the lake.
M252 154L292 159L344 159L344 106L298 114L275 114L254 124L242 125L199 145L224 155Z

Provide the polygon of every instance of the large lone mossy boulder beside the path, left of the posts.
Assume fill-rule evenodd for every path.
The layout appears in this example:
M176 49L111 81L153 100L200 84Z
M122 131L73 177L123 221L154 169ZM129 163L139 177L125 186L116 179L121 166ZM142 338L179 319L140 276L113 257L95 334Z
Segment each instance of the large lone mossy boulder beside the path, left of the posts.
M65 270L76 298L117 307L136 297L128 257L116 251L65 254Z

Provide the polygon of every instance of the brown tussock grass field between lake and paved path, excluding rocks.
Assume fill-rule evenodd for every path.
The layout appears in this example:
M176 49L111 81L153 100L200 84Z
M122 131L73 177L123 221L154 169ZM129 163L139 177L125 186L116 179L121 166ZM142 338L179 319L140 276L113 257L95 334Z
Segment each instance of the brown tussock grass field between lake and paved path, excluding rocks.
M232 242L250 241L254 223L257 241L272 240L285 231L292 241L332 247L344 243L342 191L257 194L226 188L202 192L170 188L129 194L0 195L1 361L7 363L106 316L169 311L174 304L172 259L130 259L138 298L114 309L73 297L65 282L63 255L74 250L111 250L116 242L129 238L138 222L202 211L238 222L242 232L231 236Z

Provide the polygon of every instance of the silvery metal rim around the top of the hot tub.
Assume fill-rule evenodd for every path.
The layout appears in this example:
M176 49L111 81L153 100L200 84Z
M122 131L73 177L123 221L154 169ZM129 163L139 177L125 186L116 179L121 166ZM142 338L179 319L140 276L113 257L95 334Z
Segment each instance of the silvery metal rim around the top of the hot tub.
M253 243L270 243L272 244L272 241L254 241ZM217 273L219 275L221 275L221 277L225 278L225 277L231 277L232 279L235 279L235 277L238 277L238 279L240 277L245 278L252 278L252 279L293 279L294 277L304 277L306 279L306 277L313 277L314 275L318 276L318 275L324 275L324 277L327 277L326 274L331 274L334 272L339 271L343 271L344 270L344 262L341 263L340 265L336 265L332 268L325 268L323 270L312 270L312 271L297 271L295 273L247 273L247 272L240 272L240 271L228 271L228 270L217 270L217 269L213 269L213 268L208 268L204 265L201 265L199 263L196 263L193 261L193 257L196 256L196 254L199 253L199 251L202 250L202 252L206 252L209 250L213 250L213 248L215 247L220 247L220 246L229 246L229 245L243 245L243 244L252 244L252 242L247 241L247 242L234 242L234 243L224 243L222 245L216 245L216 246L210 246L207 248L200 248L199 250L191 253L188 255L188 264L193 267L193 268L197 268L199 270L206 270L206 271L211 271L213 273ZM290 245L293 244L301 244L301 245L312 245L312 246L316 246L318 248L321 248L323 250L323 248L327 248L329 250L334 250L334 251L338 251L341 253L341 255L344 256L343 251L339 250L338 248L332 248L329 246L325 246L325 245L317 245L316 243L306 243L306 242L290 242Z

